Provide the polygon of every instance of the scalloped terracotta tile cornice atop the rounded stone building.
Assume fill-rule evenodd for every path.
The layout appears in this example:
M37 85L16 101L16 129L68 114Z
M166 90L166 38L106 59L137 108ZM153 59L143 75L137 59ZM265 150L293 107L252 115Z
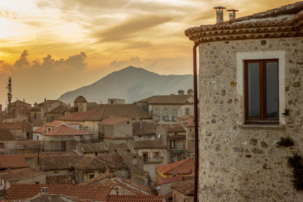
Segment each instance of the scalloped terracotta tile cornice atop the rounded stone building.
M303 34L303 11L290 19L238 22L233 24L201 25L188 28L185 35L195 44L210 41L254 38L296 37Z

